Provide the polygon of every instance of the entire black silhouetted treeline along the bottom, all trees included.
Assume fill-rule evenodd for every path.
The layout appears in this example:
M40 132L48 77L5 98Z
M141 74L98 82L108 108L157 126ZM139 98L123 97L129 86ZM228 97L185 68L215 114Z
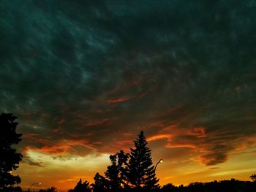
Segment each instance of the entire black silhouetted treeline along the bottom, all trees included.
M20 177L13 176L12 170L18 168L23 157L12 147L21 140L21 134L16 133L16 117L12 114L0 115L0 191L20 192L18 186ZM94 176L94 183L82 182L80 179L75 188L69 192L129 192L129 191L154 191L154 192L251 192L256 191L256 174L252 174L250 181L222 180L210 183L191 183L187 186L174 186L167 184L160 186L156 177L157 164L153 165L151 150L147 146L143 131L134 141L130 153L120 150L110 155L110 165L104 175L98 172ZM40 192L56 192L57 188L41 189Z

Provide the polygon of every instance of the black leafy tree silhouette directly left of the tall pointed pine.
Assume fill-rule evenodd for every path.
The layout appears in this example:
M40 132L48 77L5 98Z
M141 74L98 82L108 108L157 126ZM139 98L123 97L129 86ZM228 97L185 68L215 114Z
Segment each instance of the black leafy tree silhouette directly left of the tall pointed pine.
M105 177L108 178L111 191L119 191L121 185L126 185L127 159L128 154L125 154L123 150L115 155L110 155L111 165L108 166Z

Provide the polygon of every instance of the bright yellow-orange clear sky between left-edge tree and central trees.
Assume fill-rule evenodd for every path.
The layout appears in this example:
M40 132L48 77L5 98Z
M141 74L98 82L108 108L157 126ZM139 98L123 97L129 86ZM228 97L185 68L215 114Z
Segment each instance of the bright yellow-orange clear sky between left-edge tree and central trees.
M67 191L74 187L80 178L93 183L97 172L104 174L105 167L110 164L109 155L92 153L86 156L58 156L29 149L26 158L34 163L40 163L40 166L31 166L23 162L15 172L23 178L21 188L29 188L32 180L42 183L42 187L55 186ZM38 184L37 186L39 187Z

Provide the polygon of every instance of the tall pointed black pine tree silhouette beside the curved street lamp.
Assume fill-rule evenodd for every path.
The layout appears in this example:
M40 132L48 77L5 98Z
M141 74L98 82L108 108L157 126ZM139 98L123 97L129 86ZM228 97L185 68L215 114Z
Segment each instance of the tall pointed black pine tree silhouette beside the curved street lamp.
M134 141L135 148L131 148L128 164L127 178L135 188L159 188L158 179L155 177L154 166L151 160L151 150L147 147L143 131Z

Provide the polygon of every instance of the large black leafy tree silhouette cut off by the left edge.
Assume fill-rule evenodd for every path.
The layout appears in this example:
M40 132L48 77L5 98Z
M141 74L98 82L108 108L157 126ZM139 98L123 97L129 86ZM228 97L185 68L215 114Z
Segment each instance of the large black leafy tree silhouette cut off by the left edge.
M22 155L17 153L12 145L20 142L21 134L16 133L15 117L11 113L0 115L0 191L9 191L11 186L21 182L20 177L11 174L17 169Z

